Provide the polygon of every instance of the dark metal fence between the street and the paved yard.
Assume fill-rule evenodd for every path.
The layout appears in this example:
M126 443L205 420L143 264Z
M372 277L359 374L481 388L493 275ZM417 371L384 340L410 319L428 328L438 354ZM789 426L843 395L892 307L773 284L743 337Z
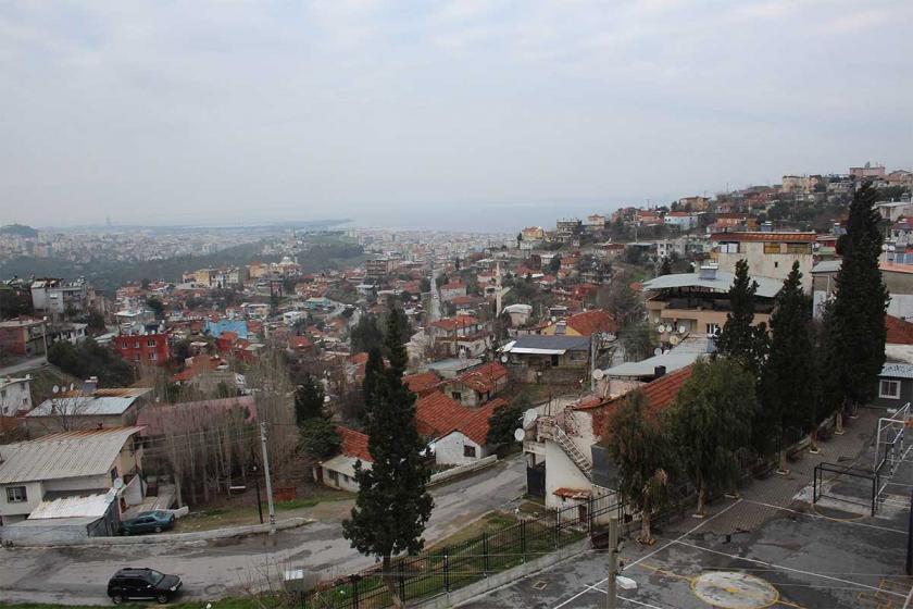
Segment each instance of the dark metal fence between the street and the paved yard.
M581 509L584 506L586 509ZM577 542L612 515L622 515L615 495L590 498L586 504L521 520L493 533L393 559L388 579L396 582L403 601L433 598ZM378 568L323 584L299 600L299 607L320 609L393 606Z

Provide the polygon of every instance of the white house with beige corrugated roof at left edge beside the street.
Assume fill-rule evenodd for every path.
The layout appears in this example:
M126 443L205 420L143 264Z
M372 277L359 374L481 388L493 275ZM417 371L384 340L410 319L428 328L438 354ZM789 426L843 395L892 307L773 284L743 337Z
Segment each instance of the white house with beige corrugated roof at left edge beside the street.
M28 535L28 532L11 533L16 523L21 527L45 529L41 533L46 534L59 526L61 535L77 538L116 533L121 512L141 502L146 496L141 476L142 448L135 442L139 431L139 427L68 431L0 446L0 535L3 540ZM51 510L47 504L54 499L109 494L117 499L108 502L113 504L111 519L108 519L107 505L101 515L48 518L47 512ZM46 513L35 514L38 510ZM26 519L34 520L33 515L53 521L23 523ZM80 520L73 522L68 520L72 518ZM104 522L98 523L100 519ZM72 527L75 531L71 531ZM51 535L46 543L53 543L53 539Z

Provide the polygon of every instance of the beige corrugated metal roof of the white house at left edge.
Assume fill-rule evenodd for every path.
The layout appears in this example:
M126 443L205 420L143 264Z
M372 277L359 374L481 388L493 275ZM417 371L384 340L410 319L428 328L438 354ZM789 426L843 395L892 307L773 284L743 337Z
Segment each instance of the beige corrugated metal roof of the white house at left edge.
M0 446L0 484L105 474L140 427L61 432Z

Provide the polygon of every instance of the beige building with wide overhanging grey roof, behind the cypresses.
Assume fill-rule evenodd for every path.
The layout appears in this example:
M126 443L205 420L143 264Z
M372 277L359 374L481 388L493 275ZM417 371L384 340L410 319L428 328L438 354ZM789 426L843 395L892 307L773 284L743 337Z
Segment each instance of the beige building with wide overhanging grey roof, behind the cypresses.
M751 276L758 282L754 323L768 322L783 282L753 273ZM729 288L734 281L734 273L705 264L697 273L662 275L643 282L648 321L659 330L660 340L674 344L676 336L716 334L731 311Z

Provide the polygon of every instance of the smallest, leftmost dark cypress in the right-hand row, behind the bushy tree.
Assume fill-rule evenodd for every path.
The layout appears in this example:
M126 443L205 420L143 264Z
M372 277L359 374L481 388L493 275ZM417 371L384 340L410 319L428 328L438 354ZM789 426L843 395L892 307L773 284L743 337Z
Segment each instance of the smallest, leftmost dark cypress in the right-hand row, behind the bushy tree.
M716 339L716 350L721 355L738 360L754 372L760 370L767 347L766 325L753 325L756 290L758 282L748 274L748 261L739 260L729 288L731 311L726 314L723 332Z

